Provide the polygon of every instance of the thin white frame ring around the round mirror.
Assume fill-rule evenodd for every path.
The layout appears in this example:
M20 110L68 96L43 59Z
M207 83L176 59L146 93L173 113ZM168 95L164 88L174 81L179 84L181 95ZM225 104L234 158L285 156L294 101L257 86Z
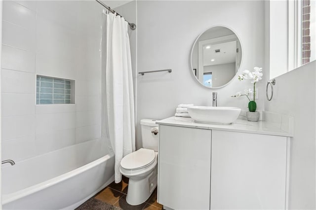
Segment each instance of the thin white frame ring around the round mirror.
M199 37L200 37L202 34L204 34L206 31L208 31L208 30L210 30L211 28L214 28L214 27L225 27L225 28L231 30L232 32L234 32L234 34L237 36L237 38L238 38L238 40L239 40L240 48L241 48L241 53L242 53L242 54L241 54L241 60L240 60L239 69L237 70L235 76L234 76L229 82L227 82L226 84L224 84L224 85L222 85L222 86L219 86L219 87L207 87L207 86L204 86L202 83L200 83L200 82L198 81L196 75L194 75L194 73L193 73L192 55L193 55L194 46L196 45L197 40L199 39ZM213 26L211 26L210 28L208 28L208 29L206 29L205 31L203 31L200 35L198 35L198 36L197 36L197 39L196 39L196 40L194 41L194 43L193 43L193 46L192 46L192 49L191 49L191 54L190 54L190 67L191 67L191 68L190 68L190 71L191 71L191 74L192 74L192 76L194 77L194 79L195 79L195 80L197 81L197 83L200 84L201 86L203 86L203 87L205 87L205 88L207 88L207 89L219 89L219 88L223 88L223 87L227 86L229 83L231 83L231 82L237 77L238 72L239 72L240 69L241 69L240 67L241 67L242 64L243 64L243 57L244 57L244 55L243 55L243 44L242 44L242 42L241 42L241 39L240 39L239 35L237 35L237 33L235 32L235 30L233 30L231 27L228 27L228 26L225 26L225 25L213 25Z

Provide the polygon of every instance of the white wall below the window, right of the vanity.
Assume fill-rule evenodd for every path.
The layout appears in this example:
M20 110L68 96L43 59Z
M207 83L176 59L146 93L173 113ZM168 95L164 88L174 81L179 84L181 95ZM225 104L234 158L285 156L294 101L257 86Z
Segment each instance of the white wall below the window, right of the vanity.
M265 110L294 117L289 209L316 209L316 61L276 77Z

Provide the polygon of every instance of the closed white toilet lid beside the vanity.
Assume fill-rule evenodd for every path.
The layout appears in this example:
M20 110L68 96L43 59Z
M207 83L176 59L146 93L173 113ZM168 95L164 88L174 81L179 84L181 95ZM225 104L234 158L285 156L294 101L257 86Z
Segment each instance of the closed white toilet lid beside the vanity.
M152 149L140 148L132 152L120 161L120 166L128 170L144 168L155 161L155 151Z

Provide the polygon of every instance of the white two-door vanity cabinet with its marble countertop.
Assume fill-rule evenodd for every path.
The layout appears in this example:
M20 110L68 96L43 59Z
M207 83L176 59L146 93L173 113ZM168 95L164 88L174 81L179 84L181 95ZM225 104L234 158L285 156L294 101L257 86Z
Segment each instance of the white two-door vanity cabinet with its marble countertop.
M287 209L291 117L230 125L159 124L158 203L165 209Z

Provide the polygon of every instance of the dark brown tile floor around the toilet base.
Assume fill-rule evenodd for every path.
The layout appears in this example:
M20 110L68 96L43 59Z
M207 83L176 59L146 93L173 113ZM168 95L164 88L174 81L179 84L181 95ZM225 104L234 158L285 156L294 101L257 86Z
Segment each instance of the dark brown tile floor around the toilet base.
M118 184L112 182L76 210L162 210L157 203L157 189L143 204L131 206L126 202L128 178L122 177Z

